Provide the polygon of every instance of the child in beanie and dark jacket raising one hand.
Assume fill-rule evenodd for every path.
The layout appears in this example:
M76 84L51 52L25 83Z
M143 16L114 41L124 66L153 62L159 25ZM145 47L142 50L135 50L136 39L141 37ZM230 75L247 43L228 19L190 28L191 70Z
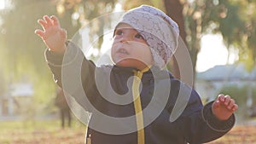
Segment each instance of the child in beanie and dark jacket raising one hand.
M194 89L163 70L177 48L178 28L159 9L143 5L123 15L113 34L113 66L98 67L86 60L75 44L67 42L55 16L44 16L38 23L44 31L36 33L48 47L45 56L55 82L92 112L87 142L199 144L221 137L235 124L233 112L238 106L229 95L218 95L202 106ZM72 66L78 64L79 55L81 66ZM65 74L68 66L73 69ZM79 79L70 74L76 69ZM64 83L64 78L81 81L84 93L79 84ZM184 109L171 120L181 101Z

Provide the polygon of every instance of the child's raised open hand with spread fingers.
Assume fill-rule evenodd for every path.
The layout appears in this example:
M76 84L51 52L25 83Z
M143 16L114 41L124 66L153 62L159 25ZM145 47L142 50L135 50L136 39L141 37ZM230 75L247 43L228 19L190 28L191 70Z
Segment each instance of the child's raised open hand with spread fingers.
M43 30L36 30L35 33L44 40L46 46L51 51L64 52L67 33L61 28L59 20L54 15L50 17L44 15L44 20L39 19L38 24L43 27Z

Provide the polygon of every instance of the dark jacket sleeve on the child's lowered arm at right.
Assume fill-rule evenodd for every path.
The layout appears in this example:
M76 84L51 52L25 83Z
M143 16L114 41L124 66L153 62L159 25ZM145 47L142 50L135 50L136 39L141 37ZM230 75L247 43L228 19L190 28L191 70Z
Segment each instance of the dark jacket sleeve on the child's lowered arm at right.
M177 119L180 132L186 141L189 144L205 143L216 140L231 130L236 121L235 115L233 114L225 121L218 120L212 114L211 107L213 101L203 106L201 98L195 89L190 89L191 95L188 104L181 116Z

